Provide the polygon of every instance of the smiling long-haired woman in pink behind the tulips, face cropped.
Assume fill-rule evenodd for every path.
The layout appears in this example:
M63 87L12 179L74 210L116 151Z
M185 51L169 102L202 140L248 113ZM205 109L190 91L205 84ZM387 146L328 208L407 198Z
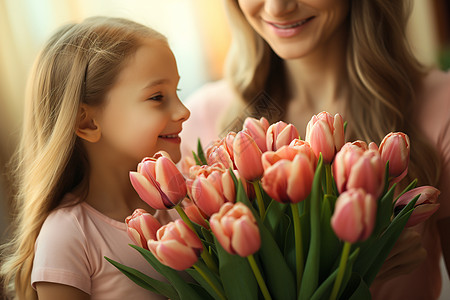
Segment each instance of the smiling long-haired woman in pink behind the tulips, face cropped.
M441 253L450 270L450 74L412 55L407 1L225 0L232 44L226 80L187 100L183 151L207 146L246 116L294 124L339 112L347 139L411 138L409 178L441 191L435 216L405 231L372 285L375 299L436 299ZM303 131L303 132L302 132ZM415 245L412 247L410 245ZM425 259L418 259L424 256Z

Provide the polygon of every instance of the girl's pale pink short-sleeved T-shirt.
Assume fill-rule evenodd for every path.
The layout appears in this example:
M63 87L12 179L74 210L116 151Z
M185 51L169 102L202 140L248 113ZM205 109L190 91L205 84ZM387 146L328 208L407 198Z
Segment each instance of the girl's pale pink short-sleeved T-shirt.
M64 202L73 202L67 195ZM157 212L167 222L166 212ZM128 279L104 256L158 280L164 280L128 244L126 225L108 218L87 203L55 209L45 220L35 245L31 283L53 282L76 287L91 299L165 299Z

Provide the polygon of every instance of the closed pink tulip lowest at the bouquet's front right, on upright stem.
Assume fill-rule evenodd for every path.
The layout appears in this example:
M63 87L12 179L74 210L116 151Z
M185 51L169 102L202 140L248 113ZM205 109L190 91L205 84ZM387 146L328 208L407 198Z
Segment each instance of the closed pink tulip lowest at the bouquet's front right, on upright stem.
M336 200L331 226L336 235L346 242L366 240L373 231L376 200L363 189L351 189Z

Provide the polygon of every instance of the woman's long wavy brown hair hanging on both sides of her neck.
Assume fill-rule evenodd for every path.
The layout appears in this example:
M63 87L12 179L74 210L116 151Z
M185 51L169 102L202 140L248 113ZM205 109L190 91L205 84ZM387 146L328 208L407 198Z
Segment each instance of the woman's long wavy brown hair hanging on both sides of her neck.
M243 105L262 105L265 109L257 113L268 112L265 117L277 121L271 119L277 114L270 112L280 107L286 111L287 107L283 60L246 21L236 0L225 3L232 32L225 76L237 94L232 109L248 112ZM407 0L350 1L346 65L351 91L344 113L352 139L379 143L391 131L411 136L409 174L418 178L419 184L437 184L437 151L410 118L426 69L407 42L409 4ZM258 103L258 98L264 100L261 92L268 93L279 107Z

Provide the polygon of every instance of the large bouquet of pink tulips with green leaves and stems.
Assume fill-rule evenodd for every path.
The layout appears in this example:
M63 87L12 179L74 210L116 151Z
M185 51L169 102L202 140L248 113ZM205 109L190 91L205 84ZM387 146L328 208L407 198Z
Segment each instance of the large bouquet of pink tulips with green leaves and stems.
M161 225L138 209L128 233L168 282L107 259L170 299L370 299L401 231L437 210L439 191L416 181L396 188L407 135L345 143L344 127L322 112L301 140L292 124L247 118L206 151L199 143L185 175L164 153L143 159L134 188L181 219Z

